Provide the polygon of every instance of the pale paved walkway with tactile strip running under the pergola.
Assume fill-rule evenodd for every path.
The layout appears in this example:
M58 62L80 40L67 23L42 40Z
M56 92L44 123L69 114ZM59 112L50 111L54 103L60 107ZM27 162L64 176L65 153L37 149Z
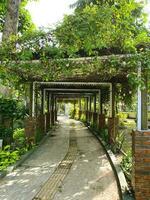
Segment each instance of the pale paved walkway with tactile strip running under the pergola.
M14 172L0 181L2 200L119 200L103 148L79 121L59 127Z

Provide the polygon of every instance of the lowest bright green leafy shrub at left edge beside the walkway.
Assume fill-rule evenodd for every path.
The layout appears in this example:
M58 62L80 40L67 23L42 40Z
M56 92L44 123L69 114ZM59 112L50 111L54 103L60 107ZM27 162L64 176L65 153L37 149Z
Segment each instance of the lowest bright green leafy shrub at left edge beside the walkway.
M5 170L9 165L19 160L19 151L11 151L10 146L5 146L4 150L0 150L0 170Z

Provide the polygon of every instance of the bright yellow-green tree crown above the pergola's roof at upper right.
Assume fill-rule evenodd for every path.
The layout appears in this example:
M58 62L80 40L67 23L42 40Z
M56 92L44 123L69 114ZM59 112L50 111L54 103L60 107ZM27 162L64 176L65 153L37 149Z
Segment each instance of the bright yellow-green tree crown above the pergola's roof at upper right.
M81 9L65 16L55 31L68 56L135 53L137 46L149 43L141 3L79 0L78 4Z

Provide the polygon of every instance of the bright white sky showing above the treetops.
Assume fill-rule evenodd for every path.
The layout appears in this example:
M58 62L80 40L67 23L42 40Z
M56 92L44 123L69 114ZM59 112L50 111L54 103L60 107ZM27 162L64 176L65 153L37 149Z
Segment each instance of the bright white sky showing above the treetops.
M37 27L53 26L63 19L64 14L73 12L69 8L77 0L38 0L30 2L27 9L30 11L33 22ZM137 0L139 1L139 0ZM150 0L147 0L145 11L149 14L150 21Z

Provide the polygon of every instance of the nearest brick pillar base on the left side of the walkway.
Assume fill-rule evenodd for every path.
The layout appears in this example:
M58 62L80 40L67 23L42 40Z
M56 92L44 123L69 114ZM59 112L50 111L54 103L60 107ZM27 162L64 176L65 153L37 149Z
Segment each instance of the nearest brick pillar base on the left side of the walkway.
M25 119L25 136L29 143L35 143L36 118L28 117Z

